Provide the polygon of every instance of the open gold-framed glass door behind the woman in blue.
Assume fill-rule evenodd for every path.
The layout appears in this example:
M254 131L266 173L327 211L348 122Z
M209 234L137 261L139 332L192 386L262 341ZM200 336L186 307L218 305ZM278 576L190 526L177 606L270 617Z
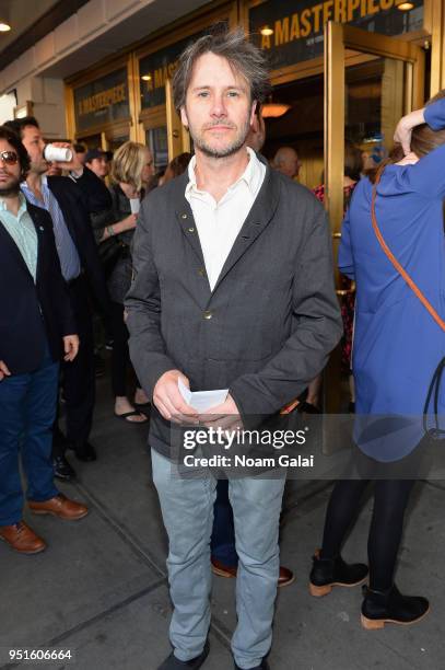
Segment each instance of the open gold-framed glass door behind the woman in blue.
M424 102L424 51L396 37L328 22L325 26L325 207L329 215L336 290L343 315L353 312L354 286L338 272L341 222L350 189L350 148L361 151L364 170L393 146L399 118ZM347 159L346 159L347 152ZM360 153L359 153L360 155ZM347 337L351 337L353 313ZM353 386L346 369L344 342L325 372L325 412L348 412Z

